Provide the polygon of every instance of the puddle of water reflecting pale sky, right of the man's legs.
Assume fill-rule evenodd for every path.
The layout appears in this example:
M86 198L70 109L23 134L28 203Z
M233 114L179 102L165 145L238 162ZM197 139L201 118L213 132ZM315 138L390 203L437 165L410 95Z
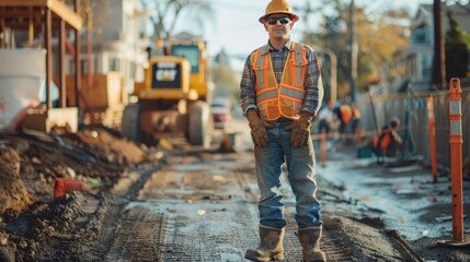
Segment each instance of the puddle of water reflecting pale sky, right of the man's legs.
M356 209L362 209L365 215L375 214L382 218L388 228L400 231L410 240L425 236L438 238L451 233L451 222L420 221L420 216L436 200L450 203L450 195L447 199L433 198L433 192L438 188L433 189L426 183L432 179L428 171L410 168L401 174L391 174L387 168L376 167L368 162L370 160L329 162L324 167L319 166L319 176L335 184L345 186L344 196L359 200ZM440 190L446 189L439 187Z

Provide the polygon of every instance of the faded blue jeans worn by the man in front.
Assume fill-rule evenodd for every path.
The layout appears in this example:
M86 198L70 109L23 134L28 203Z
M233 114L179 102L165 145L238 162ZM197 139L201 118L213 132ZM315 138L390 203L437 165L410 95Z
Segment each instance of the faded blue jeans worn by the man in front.
M257 184L261 191L259 211L260 224L282 228L287 225L284 217L280 192L282 165L287 164L288 180L296 195L296 222L299 228L320 226L320 203L316 198L317 166L313 143L295 148L290 145L291 131L285 131L290 122L273 122L266 129L270 142L254 147Z

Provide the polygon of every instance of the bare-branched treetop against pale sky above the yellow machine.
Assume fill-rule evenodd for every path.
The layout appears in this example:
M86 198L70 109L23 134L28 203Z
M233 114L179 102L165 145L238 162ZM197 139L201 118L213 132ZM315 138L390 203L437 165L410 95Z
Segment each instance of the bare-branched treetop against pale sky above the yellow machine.
M176 23L184 16L194 27L204 25L214 10L209 0L142 0L142 5L154 13L150 16L154 39L169 39ZM184 12L191 10L192 12ZM203 27L203 26L200 26Z

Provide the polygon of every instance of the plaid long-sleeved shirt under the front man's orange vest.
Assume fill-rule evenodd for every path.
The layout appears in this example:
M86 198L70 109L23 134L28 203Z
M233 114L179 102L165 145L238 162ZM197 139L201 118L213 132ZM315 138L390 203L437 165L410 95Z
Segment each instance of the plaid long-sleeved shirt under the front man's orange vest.
M275 49L270 43L267 45L270 47L268 52L271 53L274 74L276 75L277 84L279 84L280 78L283 76L284 64L286 63L289 50L291 50L293 43L291 40L287 41L286 46L280 50ZM240 82L240 103L244 115L247 115L250 108L257 111L255 92L256 75L250 61L253 53L254 51L247 58ZM307 46L306 57L308 66L303 84L307 92L300 110L317 115L321 106L321 100L323 99L323 86L319 85L320 67L317 53L309 46Z

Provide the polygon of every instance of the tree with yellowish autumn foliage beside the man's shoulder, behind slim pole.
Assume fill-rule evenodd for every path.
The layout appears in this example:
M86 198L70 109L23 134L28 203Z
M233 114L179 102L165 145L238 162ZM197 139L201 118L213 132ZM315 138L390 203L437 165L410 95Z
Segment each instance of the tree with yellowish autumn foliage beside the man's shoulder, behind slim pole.
M306 31L303 41L329 48L336 55L341 98L347 95L351 88L351 15L348 2L334 1L333 5L336 14L325 17L325 26L320 33ZM357 8L358 91L364 91L368 83L380 79L381 66L392 59L397 48L408 45L408 25L403 23L406 20L410 20L410 14L405 10L388 10L374 19L365 9ZM324 61L329 62L328 59Z

